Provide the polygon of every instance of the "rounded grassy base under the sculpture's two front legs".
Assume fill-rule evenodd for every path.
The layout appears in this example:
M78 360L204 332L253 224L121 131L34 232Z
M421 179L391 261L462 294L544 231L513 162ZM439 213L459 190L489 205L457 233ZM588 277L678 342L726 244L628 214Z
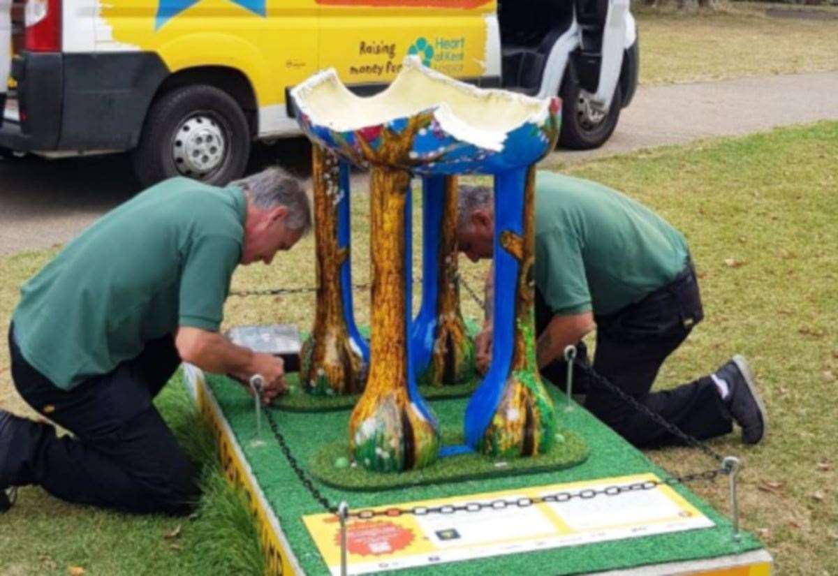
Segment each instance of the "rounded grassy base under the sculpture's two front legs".
M449 424L454 424L457 412L436 404L434 411L440 418L447 416ZM451 418L453 416L453 419ZM462 445L463 432L456 428L442 429L442 445ZM308 460L308 471L312 476L328 486L342 488L349 491L380 491L421 486L423 484L439 484L440 482L462 482L479 480L495 476L514 476L521 474L535 474L569 468L587 458L587 445L584 440L568 429L561 429L556 433L556 442L546 454L534 458L508 458L493 460L487 456L475 453L447 456L439 458L432 465L421 470L411 470L400 473L371 472L363 466L340 467L339 460L346 461L349 455L349 442L335 440L323 446Z

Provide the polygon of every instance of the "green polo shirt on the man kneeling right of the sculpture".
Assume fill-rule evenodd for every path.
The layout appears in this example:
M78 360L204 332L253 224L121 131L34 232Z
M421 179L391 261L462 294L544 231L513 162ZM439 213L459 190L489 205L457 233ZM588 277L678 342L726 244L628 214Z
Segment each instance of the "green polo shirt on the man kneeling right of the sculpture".
M675 280L688 254L683 234L631 198L537 173L535 285L554 314L618 311Z

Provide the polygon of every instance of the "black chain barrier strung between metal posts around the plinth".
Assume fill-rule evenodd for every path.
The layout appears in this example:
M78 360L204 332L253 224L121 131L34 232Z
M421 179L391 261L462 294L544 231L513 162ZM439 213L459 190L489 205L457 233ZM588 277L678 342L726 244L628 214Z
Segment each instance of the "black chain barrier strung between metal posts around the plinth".
M468 291L469 295L472 296L473 300L479 306L483 306L483 301L481 301L478 295L471 289L470 286L468 286L468 283L466 283L462 278L461 282L463 286L466 287L466 291ZM368 288L369 285L356 285L355 287ZM240 293L231 292L230 294L234 296L266 296L275 294L299 293L303 291L313 290L313 288L290 288L275 289L270 291L247 291ZM670 432L670 434L677 436L686 445L698 448L706 455L709 455L713 460L716 460L716 462L720 463L719 467L713 470L694 472L691 474L685 474L681 476L670 475L668 478L665 478L664 480L634 482L632 484L626 484L622 486L606 486L601 489L589 488L581 491L561 491L555 492L553 494L548 494L546 496L521 497L514 500L506 500L501 498L492 501L472 501L465 504L446 504L436 507L389 507L385 508L384 510L364 509L353 512L344 512L345 516L365 520L374 517L398 517L406 514L412 516L427 516L428 514L454 514L456 512L480 512L483 510L499 511L505 510L510 507L526 508L534 506L536 504L545 503L561 504L563 502L572 501L574 499L590 500L597 496L618 496L620 494L628 492L649 491L654 490L658 486L675 486L676 484L687 484L689 482L694 481L715 481L718 476L729 476L732 474L733 471L735 471L736 466L732 465L729 459L726 460L722 455L719 455L715 450L712 450L710 447L702 444L701 441L696 439L694 436L686 434L683 430L678 428L678 426L676 426L675 424L671 424L665 418L660 416L660 414L656 414L651 409L644 406L644 404L640 404L628 393L625 393L623 389L618 388L618 386L609 382L608 378L605 378L602 375L598 374L596 371L594 371L593 368L587 365L587 363L582 363L578 360L576 361L576 363L577 366L582 368L582 371L586 373L589 378L594 379L597 383L601 383L603 386L608 388L609 391L617 394L620 399L625 400L629 405L631 405L634 409L638 410L641 414L645 414L654 423L659 424L660 426L665 428L668 432ZM303 466L299 464L297 459L292 454L291 449L288 446L287 440L285 440L285 437L279 430L277 421L276 419L274 419L272 410L266 409L265 414L267 417L268 424L271 427L271 431L277 440L277 444L279 445L280 450L282 450L282 454L285 455L285 458L288 460L288 464L291 465L291 469L297 476L297 479L299 479L299 481L303 484L306 490L308 490L309 494L311 494L314 500L317 501L318 504L320 504L320 506L323 507L323 509L326 512L337 514L339 512L339 506L329 501L328 498L325 495L323 495L323 492L319 491L317 486L314 486L314 482L312 481L312 479L308 476L306 471L303 470Z

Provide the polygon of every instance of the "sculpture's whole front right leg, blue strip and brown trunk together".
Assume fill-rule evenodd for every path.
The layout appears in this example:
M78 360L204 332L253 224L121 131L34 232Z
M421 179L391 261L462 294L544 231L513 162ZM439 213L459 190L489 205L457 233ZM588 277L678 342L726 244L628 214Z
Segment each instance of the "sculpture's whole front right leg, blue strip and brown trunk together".
M495 179L492 366L466 410L466 436L493 456L536 455L554 439L556 414L535 363L535 167Z

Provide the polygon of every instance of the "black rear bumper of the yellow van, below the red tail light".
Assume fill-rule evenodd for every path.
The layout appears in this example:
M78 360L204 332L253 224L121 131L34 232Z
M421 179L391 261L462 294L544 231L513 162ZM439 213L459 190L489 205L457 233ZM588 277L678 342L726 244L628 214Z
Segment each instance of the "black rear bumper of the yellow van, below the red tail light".
M168 69L157 54L23 52L12 62L0 147L17 152L121 151L137 146ZM15 106L17 104L17 106Z

